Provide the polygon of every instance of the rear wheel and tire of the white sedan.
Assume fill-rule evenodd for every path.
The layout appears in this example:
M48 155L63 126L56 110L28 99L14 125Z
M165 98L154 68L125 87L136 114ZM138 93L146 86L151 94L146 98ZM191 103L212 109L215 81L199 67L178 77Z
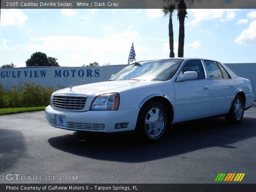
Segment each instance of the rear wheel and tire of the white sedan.
M244 100L240 95L237 95L234 99L234 102L228 112L228 115L225 116L226 120L229 123L239 123L244 116Z

